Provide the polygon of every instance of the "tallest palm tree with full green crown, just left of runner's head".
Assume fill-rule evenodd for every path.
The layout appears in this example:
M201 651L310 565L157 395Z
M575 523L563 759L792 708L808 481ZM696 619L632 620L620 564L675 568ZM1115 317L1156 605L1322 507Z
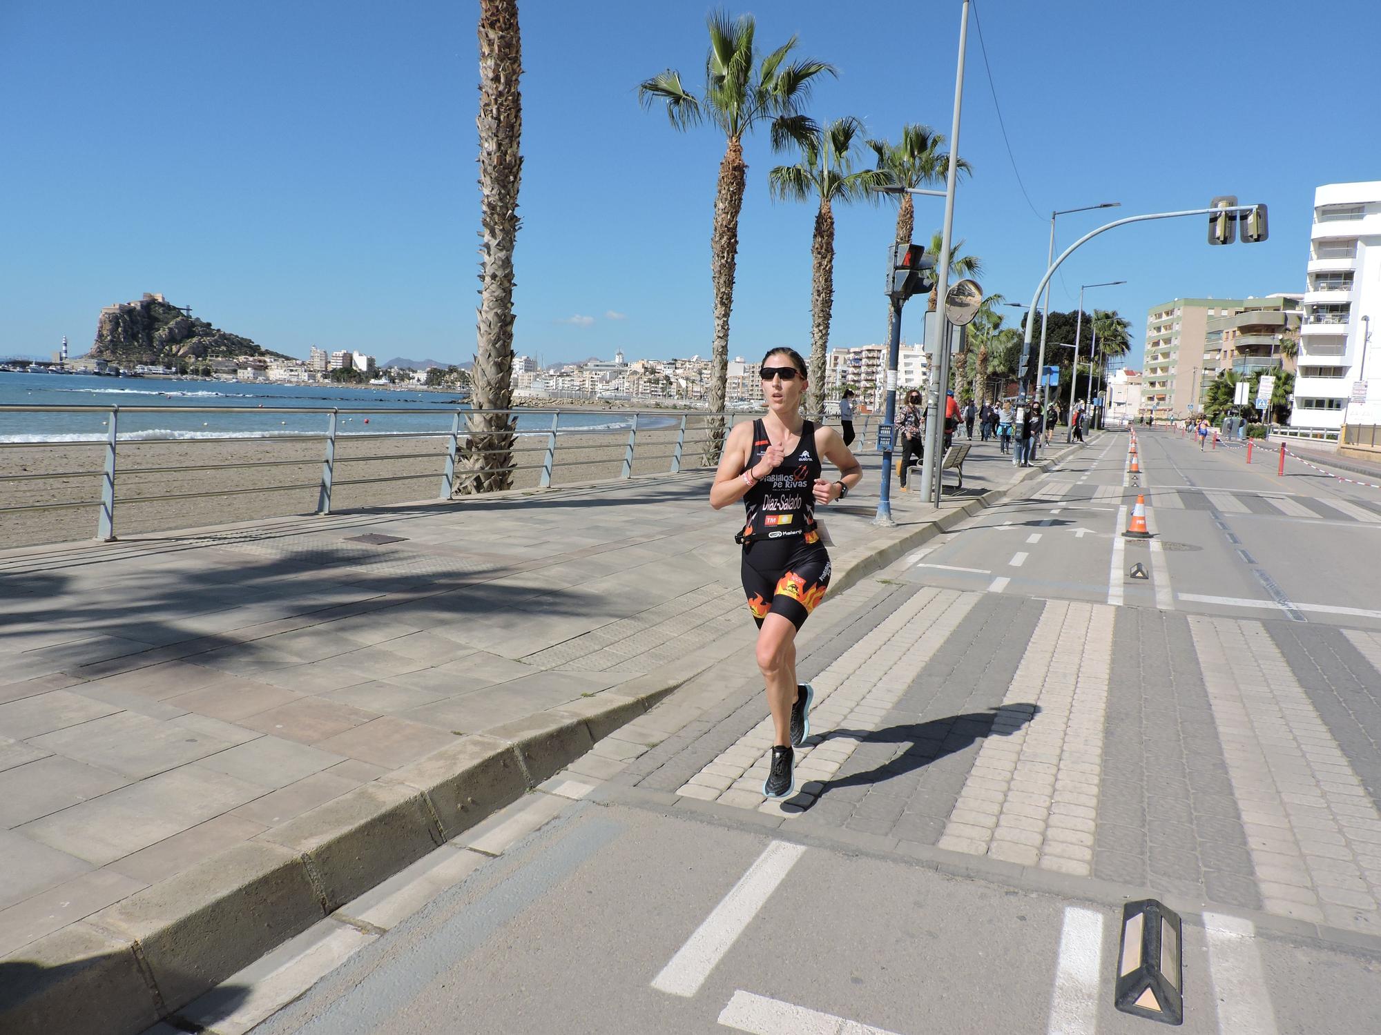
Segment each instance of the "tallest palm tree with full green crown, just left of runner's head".
M710 54L706 58L704 91L697 98L673 69L644 80L638 102L650 108L664 101L667 117L677 130L708 120L726 138L720 179L714 193L714 232L710 237L710 276L714 284L714 345L710 363L710 421L704 464L720 461L724 444L724 392L729 374L729 313L733 309L733 273L739 254L739 213L749 166L743 160L743 137L758 123L771 123L772 145L804 139L813 123L800 112L811 86L820 73L834 75L822 61L794 61L793 36L758 59L753 15L729 18L718 11L708 18Z

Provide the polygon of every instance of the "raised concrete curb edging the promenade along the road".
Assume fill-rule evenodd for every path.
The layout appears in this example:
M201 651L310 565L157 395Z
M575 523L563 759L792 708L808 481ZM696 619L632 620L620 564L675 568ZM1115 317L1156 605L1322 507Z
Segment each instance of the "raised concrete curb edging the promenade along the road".
M836 592L1000 502L1001 489L844 556ZM273 947L565 769L715 664L667 665L563 708L470 734L0 960L0 1031L138 1035Z

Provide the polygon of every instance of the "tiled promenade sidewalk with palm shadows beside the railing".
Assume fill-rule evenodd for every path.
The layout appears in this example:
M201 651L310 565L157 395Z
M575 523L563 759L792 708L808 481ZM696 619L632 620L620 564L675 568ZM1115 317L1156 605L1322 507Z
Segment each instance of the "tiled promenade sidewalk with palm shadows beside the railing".
M870 468L823 512L836 591L1029 473L975 454L963 494L939 511L894 497L898 527L877 529ZM557 756L523 747L537 784L744 651L742 513L713 512L707 486L699 472L0 553L0 972L119 955L210 909L236 879L225 860L365 829L457 745L581 727ZM623 744L595 744L587 766L612 771ZM432 840L503 803L434 817ZM392 869L420 853L399 849ZM232 945L221 969L293 926ZM144 969L155 1012L225 976L156 988L159 965ZM10 1002L22 992L10 983Z

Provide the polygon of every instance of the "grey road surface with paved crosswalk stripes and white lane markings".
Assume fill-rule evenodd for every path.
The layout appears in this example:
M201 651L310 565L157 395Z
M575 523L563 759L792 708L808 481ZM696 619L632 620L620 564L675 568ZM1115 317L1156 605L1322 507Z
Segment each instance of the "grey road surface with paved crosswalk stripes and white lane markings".
M1381 498L1150 432L1132 477L1127 442L812 617L794 798L739 651L177 1029L1131 1035L1155 897L1184 1031L1377 1031Z

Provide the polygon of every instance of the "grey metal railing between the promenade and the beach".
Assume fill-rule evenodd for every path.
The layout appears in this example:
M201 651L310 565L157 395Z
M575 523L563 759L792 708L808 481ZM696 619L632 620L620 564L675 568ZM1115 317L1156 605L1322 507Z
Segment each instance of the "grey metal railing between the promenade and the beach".
M519 471L536 471L537 487L550 489L552 484L552 475L557 469L557 455L558 450L563 454L561 461L561 468L581 468L591 465L605 465L619 466L617 477L609 479L591 479L594 482L617 482L626 480L632 476L634 466L639 462L646 462L649 460L667 461L666 473L679 473L682 466L699 466L699 458L704 451L708 442L708 426L715 418L715 414L710 414L704 410L545 410L545 408L512 408L512 410L453 410L449 413L450 426L449 429L436 428L429 431L395 431L395 432L342 432L341 418L349 414L365 415L370 418L396 415L396 414L427 414L428 417L443 417L447 411L438 411L436 408L423 408L423 407L228 407L228 406L0 406L0 415L7 413L33 413L33 414L84 414L88 417L104 417L105 428L101 432L101 437L93 437L83 442L44 442L44 440L30 440L30 442L0 442L0 457L6 455L6 450L47 450L47 448L99 448L102 451L102 465L99 469L86 469L86 471L57 471L57 472L11 472L0 466L0 486L8 486L11 483L29 483L29 482L51 482L61 479L99 479L99 494L98 498L88 500L75 500L62 502L43 502L43 504L19 504L0 506L0 516L10 513L22 512L41 512L41 511L70 511L81 508L97 508L97 538L102 541L113 541L116 538L116 506L126 506L133 504L146 504L146 502L160 502L168 500L202 500L202 498L215 498L228 497L239 494L257 494L257 493L287 493L287 491L309 491L316 490L316 513L327 515L331 513L331 498L336 489L342 486L365 486L365 484L380 484L391 482L410 482L423 479L441 479L439 491L436 494L438 500L450 500L456 489L456 480L463 473L461 464L464 461L479 458L492 454L510 454L510 462L503 471L519 472ZM130 437L126 433L122 437L120 424L122 417L128 420L131 414L159 414L159 415L177 415L177 414L254 414L255 417L272 417L278 414L311 414L325 420L326 428L320 433L307 432L307 433L275 433L264 432L262 435L246 436L239 435L215 435L207 433L202 437ZM511 422L516 428L516 418L550 418L550 424L544 428L529 426L516 432L518 437L514 440L511 448L476 448L471 444L471 432L467 428L467 418L471 415L483 414L497 414L511 418ZM601 417L608 417L609 420L628 421L628 437L623 444L621 455L615 453L617 450L617 436L621 429L599 429L583 425L566 424L562 425L562 420L568 421L576 415L591 417L598 414ZM728 411L720 414L725 422L725 436L733 428L735 424L743 420L753 420L761 415L761 411ZM829 418L829 422L837 424L838 418ZM858 448L865 447L869 440L867 433L873 422L878 420L877 414L858 414L855 415L855 431L859 435ZM649 435L661 432L664 435L674 433L674 443L660 443L663 446L671 444L670 451L648 453L646 447L639 450L638 442L639 435L644 442L648 440ZM493 432L476 431L475 437L486 437L493 435ZM574 435L598 435L610 436L606 442L562 442L565 436ZM355 443L355 442L369 442L369 440L392 440L398 443L405 443L409 439L441 439L443 443L442 451L435 448L418 453L385 453L373 455L337 455L337 446L341 443ZM525 439L532 440L533 444L525 444ZM540 440L540 442L539 442ZM196 447L202 443L236 443L242 446L253 444L279 444L279 443L322 443L322 453L318 458L290 458L279 460L269 458L264 455L257 455L254 458L236 460L233 462L215 462L215 464L178 464L175 466L127 466L122 471L120 466L120 451L122 448L131 446L159 446L159 444L173 444L178 447ZM588 453L581 454L580 451L588 450L602 450L605 455L590 457ZM572 454L577 458L572 460ZM613 454L613 455L610 455ZM686 458L690 458L686 461ZM394 462L403 460L431 460L435 458L441 461L441 471L427 471L418 473L388 473L388 475L371 475L367 477L338 477L337 466L342 464L367 464L367 462ZM530 462L529 462L530 461ZM271 484L271 486L239 486L233 489L217 489L217 490L199 490L188 493L153 493L153 494L139 494L139 495L120 495L117 494L119 476L122 473L127 476L145 476L145 475L186 475L191 472L218 472L218 471L236 471L247 468L301 468L311 466L320 462L322 473L319 479L311 482L290 482L286 484ZM284 472L287 475L287 472Z

